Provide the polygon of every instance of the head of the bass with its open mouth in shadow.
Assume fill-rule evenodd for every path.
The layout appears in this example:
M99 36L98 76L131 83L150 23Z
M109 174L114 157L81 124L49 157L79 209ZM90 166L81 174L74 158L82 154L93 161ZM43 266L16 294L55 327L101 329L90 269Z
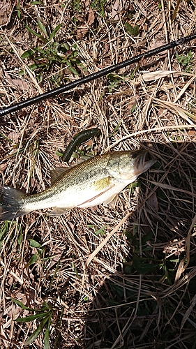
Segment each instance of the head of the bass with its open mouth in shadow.
M114 157L119 156L118 166L115 171L118 177L123 181L132 183L140 174L149 170L156 163L156 159L148 158L148 151L118 151L114 153ZM117 163L117 161L116 161Z

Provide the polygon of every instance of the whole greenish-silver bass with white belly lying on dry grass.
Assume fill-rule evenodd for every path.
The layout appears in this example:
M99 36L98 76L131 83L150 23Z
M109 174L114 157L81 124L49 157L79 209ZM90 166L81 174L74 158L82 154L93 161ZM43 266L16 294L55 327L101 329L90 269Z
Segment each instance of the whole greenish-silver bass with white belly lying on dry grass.
M51 186L27 195L10 186L0 186L0 221L31 211L53 208L49 216L66 214L74 207L107 205L123 188L146 172L156 159L146 160L146 151L113 151L94 156L72 168L51 170Z

